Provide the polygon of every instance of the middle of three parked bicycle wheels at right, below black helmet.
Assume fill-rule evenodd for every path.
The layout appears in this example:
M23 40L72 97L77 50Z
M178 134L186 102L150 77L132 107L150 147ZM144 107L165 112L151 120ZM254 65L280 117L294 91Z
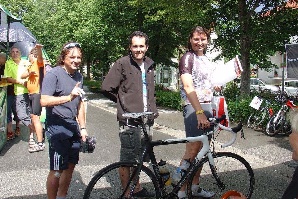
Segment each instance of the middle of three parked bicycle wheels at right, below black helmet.
M274 122L275 120L275 122ZM266 125L266 131L265 133L268 136L275 136L278 134L281 130L286 121L286 114L281 111L280 113L275 112L272 117L269 119L267 125Z

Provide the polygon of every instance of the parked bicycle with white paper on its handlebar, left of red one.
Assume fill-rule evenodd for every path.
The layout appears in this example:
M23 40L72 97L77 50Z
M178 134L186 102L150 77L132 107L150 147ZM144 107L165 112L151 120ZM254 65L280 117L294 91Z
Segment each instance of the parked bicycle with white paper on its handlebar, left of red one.
M259 99L265 99L262 95L259 96ZM263 120L266 117L266 113L268 115L268 118L270 119L271 116L273 115L273 111L271 108L269 108L269 105L278 105L278 104L273 104L271 100L265 99L266 106L264 106L260 110L256 110L254 113L249 116L247 120L247 127L249 128L255 128L260 125L260 123L263 122Z

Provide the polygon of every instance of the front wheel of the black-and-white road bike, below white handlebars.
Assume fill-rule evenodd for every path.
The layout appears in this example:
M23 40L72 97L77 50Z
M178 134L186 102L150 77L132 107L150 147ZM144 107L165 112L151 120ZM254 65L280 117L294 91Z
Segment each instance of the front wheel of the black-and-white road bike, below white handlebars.
M219 152L213 155L217 169L214 172L219 177L221 184L215 180L208 160L208 156L206 156L193 171L187 182L188 198L193 199L198 196L197 190L191 190L192 184L198 184L201 189L207 192L214 192L215 195L212 198L221 198L225 192L230 190L242 192L247 199L251 197L255 186L255 177L251 166L244 158L229 152ZM200 169L201 174L199 173ZM204 197L204 195L201 197Z

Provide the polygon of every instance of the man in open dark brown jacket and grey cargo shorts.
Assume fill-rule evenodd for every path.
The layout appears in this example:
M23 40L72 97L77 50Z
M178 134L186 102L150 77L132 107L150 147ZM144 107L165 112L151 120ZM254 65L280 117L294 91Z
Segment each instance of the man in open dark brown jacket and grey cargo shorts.
M147 111L155 113L144 119L150 139L152 139L154 119L159 115L155 104L154 69L156 63L145 56L148 40L145 33L133 32L129 36L128 55L115 62L101 86L102 94L117 103L117 121L119 121L121 142L120 161L136 160L142 154L140 149L145 143L142 127L134 121L126 120L122 114ZM131 126L129 123L138 127L129 127ZM146 156L144 161L149 162L149 156ZM124 176L121 178L122 181L129 178L129 168L121 168L120 173L120 176ZM125 193L125 197L128 196L129 190ZM153 197L154 193L148 192L137 182L132 196Z

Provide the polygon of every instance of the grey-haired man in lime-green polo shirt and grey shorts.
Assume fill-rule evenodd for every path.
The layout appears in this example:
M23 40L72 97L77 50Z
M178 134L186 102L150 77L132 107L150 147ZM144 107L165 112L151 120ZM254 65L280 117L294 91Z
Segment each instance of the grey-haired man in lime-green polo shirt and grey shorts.
M6 61L4 75L7 76L7 82L14 84L16 112L22 123L30 128L29 146L33 147L36 143L34 141L34 127L31 124L31 113L29 110L29 91L27 89L27 81L20 78L31 63L20 58L21 52L18 47L12 47L10 55L12 59ZM15 136L19 135L15 134Z

